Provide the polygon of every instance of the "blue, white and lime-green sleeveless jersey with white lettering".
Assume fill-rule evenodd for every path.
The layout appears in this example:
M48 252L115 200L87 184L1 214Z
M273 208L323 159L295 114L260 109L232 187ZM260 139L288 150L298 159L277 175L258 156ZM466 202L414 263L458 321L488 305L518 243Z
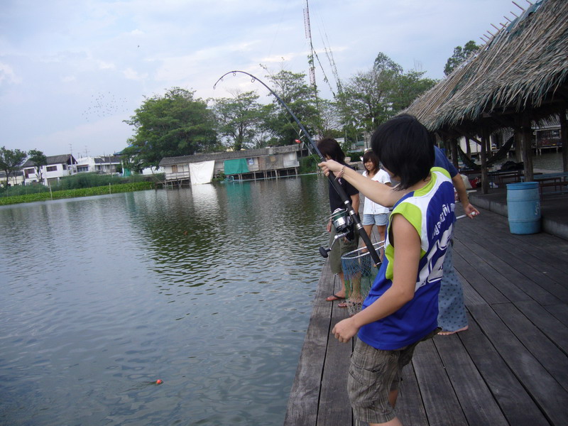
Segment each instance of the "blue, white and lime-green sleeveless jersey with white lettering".
M416 229L421 241L420 263L413 300L388 317L359 330L359 339L376 349L393 350L413 344L437 327L439 284L455 219L455 201L454 185L447 170L435 167L430 170L430 175L430 182L402 197L391 214L391 217L402 214ZM363 308L371 305L393 284L395 246L391 244L391 223L386 233L383 263Z

